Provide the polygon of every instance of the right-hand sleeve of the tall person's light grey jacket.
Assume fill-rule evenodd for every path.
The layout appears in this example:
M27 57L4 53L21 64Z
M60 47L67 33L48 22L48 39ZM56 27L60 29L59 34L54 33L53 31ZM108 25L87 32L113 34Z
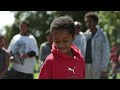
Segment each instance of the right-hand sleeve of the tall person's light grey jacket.
M109 57L110 57L110 46L108 42L108 38L105 33L102 34L102 63L101 63L101 71L107 71Z

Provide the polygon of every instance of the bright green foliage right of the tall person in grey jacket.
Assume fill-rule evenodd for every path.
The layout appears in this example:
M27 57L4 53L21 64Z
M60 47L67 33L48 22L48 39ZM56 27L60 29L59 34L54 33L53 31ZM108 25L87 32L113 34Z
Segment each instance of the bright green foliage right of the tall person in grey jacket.
M119 11L99 11L99 24L107 33L110 45L112 42L120 44L120 12Z

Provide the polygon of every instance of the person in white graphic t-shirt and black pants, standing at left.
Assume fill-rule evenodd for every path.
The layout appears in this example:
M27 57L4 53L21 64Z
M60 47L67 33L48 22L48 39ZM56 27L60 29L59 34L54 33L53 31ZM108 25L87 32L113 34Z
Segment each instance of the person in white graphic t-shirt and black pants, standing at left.
M15 35L8 47L13 58L12 69L6 74L6 79L33 79L35 56L38 56L38 46L33 35L28 33L29 23L22 21L20 33Z

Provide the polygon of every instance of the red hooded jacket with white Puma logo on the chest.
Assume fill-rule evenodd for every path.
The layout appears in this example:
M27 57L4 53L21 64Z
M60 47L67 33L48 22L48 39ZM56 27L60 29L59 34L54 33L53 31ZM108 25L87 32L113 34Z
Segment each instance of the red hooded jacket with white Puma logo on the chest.
M53 45L52 53L41 67L39 79L85 79L85 62L75 45L71 46L74 57L63 54Z

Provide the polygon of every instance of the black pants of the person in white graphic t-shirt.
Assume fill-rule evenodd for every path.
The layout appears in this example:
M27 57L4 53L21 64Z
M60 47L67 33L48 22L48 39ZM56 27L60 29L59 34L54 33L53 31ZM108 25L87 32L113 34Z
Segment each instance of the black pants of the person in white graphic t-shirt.
M33 79L33 74L26 74L11 69L6 73L3 79Z

